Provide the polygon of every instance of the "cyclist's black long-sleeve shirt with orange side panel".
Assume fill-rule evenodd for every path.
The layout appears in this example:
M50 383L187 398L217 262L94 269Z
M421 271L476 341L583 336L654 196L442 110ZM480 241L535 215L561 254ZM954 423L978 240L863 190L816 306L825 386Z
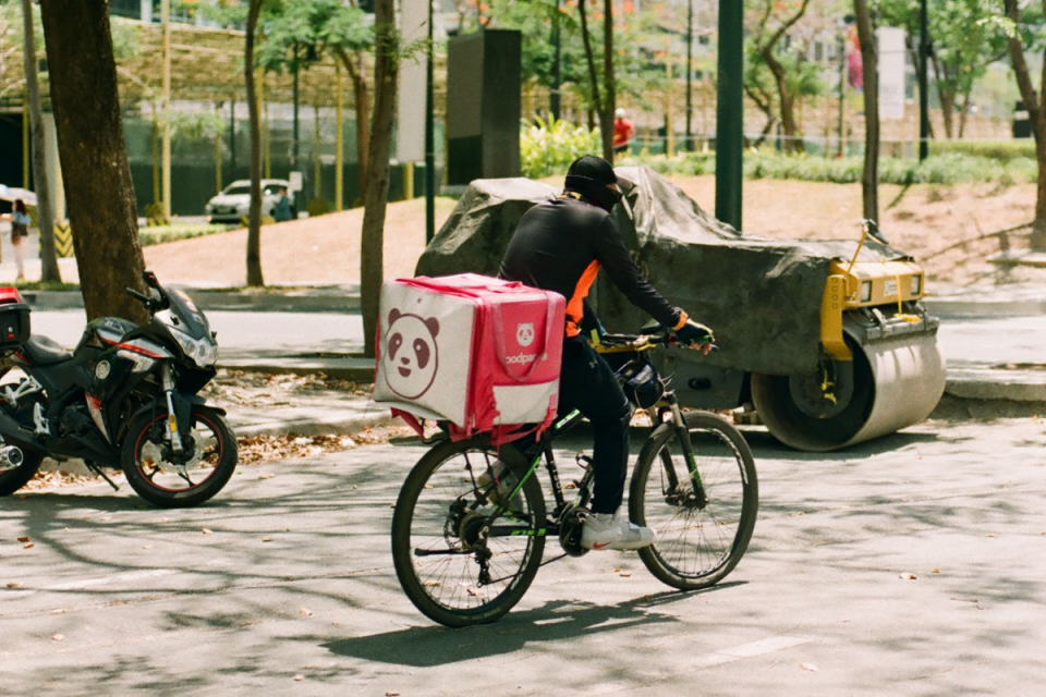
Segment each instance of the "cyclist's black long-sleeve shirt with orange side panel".
M679 323L682 310L640 273L613 218L571 196L538 204L520 218L500 276L565 297L567 335L575 337L600 268L633 305L667 327Z

